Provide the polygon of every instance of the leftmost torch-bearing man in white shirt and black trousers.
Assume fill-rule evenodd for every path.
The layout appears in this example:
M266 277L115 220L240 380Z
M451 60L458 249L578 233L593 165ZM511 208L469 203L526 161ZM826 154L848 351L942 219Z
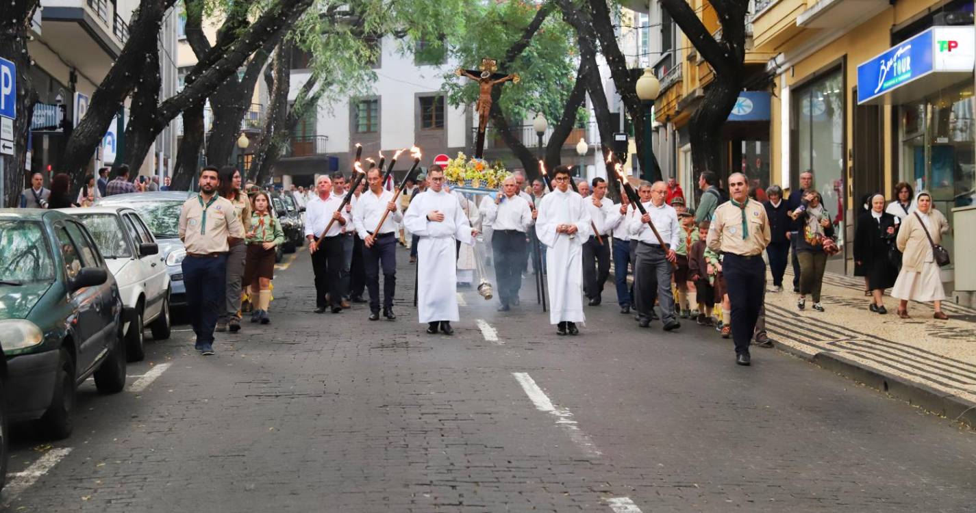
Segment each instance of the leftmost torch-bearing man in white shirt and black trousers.
M332 194L332 179L327 175L315 180L315 192L316 196L308 202L305 210L305 238L308 239L312 271L315 273L315 313L324 312L329 303L332 313L339 313L343 311L340 282L343 269L342 232L351 217L341 212L343 198ZM336 221L323 235L331 219ZM319 236L322 238L315 242ZM329 296L328 301L326 295Z

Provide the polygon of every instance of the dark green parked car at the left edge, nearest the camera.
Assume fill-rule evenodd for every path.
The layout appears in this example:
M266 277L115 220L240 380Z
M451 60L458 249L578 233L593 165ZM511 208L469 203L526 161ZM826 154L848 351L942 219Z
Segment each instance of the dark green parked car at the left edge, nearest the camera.
M71 434L78 385L125 386L122 298L95 240L58 211L0 210L0 340L9 419Z

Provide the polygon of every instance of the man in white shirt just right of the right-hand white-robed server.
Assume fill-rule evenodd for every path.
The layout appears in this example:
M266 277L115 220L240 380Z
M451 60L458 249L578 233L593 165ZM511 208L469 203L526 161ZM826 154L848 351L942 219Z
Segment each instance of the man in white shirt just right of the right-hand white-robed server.
M583 292L590 299L590 306L600 304L603 284L610 275L610 232L620 225L623 216L620 209L606 197L607 181L593 178L593 193L584 204L590 213L590 220L603 239L600 243L593 234L583 245Z

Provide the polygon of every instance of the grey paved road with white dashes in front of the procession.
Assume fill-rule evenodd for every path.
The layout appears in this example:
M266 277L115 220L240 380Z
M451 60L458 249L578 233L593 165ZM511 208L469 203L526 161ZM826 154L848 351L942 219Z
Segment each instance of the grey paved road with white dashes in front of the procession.
M10 511L976 511L976 432L775 350L636 327L611 287L556 336L463 290L427 335L399 251L396 322L312 313L306 254L272 324L148 341L74 434L17 429ZM147 334L148 336L148 334Z

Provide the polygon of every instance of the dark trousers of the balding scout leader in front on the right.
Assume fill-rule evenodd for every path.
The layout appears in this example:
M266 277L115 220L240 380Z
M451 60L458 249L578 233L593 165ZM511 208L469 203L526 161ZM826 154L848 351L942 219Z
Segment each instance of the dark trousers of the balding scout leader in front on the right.
M726 253L722 274L732 303L732 339L736 354L749 354L749 342L755 330L766 287L766 263L762 256L738 256Z

